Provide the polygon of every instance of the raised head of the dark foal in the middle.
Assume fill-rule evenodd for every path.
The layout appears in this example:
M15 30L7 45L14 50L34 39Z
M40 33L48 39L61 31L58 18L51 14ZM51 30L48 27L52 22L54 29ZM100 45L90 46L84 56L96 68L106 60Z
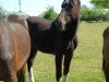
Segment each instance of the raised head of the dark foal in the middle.
M65 30L65 25L73 20L77 20L81 11L80 0L64 0L61 5L62 10L57 19L60 31Z

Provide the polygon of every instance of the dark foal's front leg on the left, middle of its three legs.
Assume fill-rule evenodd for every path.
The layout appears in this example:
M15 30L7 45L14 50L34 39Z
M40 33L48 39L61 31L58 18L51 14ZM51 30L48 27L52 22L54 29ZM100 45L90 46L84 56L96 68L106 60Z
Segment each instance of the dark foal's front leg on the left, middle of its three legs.
M61 54L56 55L56 79L57 79L57 82L60 82L61 77L62 77L62 58L63 58L63 55L61 55Z

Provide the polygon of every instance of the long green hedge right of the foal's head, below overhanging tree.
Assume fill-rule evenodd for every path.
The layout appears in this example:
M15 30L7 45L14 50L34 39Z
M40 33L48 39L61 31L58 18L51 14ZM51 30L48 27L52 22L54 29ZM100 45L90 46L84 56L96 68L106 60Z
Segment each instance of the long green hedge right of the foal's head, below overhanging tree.
M104 9L82 7L81 21L109 21L109 12Z

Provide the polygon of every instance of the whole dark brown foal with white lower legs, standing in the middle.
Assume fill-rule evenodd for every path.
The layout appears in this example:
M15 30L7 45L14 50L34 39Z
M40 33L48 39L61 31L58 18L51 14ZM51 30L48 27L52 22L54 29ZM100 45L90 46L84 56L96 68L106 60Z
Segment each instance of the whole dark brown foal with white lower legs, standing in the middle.
M63 62L63 82L66 82L71 59L77 46L77 25L80 20L80 0L64 0L59 16L50 23L45 19L29 16L27 19L32 39L31 56L27 61L31 82L33 77L33 62L37 50L56 56L56 79L60 82Z

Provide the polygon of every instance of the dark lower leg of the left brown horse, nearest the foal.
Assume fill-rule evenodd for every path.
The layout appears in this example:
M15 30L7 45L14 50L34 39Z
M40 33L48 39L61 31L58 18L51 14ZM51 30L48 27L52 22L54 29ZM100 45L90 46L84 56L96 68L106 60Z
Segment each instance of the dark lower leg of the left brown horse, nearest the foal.
M26 65L24 65L23 68L17 72L19 82L25 82L25 70L26 70Z

